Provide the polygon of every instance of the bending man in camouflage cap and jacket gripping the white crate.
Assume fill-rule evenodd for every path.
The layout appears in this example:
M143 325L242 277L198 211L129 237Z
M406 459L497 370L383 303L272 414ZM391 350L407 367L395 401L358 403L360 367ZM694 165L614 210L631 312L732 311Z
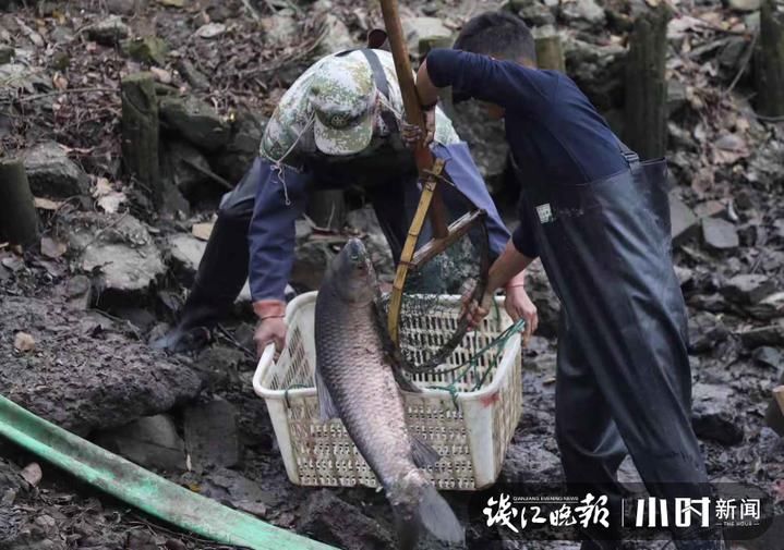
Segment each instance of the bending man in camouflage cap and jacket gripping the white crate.
M426 114L436 122L433 154L448 160L446 172L456 187L489 215L494 258L509 232L449 119L436 106ZM420 195L411 152L420 137L418 127L403 122L402 97L388 51L351 50L313 64L282 96L258 158L224 197L180 323L154 345L183 351L202 343L198 337L225 315L250 277L260 318L257 351L261 354L269 343L282 350L294 221L313 191L364 187L397 262ZM444 198L447 207L455 200L449 190ZM535 307L516 282L507 289L508 307L535 319Z

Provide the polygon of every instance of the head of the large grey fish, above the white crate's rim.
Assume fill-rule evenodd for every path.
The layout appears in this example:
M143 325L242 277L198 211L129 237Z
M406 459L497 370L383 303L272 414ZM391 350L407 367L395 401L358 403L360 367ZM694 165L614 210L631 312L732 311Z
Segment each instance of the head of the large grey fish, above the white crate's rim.
M371 303L378 289L378 280L370 254L361 240L351 237L333 262L335 286L347 302Z

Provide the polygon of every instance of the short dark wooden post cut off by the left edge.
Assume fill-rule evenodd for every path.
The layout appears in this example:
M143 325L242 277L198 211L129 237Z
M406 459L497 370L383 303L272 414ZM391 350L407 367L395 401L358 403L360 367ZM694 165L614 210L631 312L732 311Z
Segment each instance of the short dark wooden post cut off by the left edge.
M40 239L27 172L17 159L0 159L0 232L9 242L23 247L33 246Z

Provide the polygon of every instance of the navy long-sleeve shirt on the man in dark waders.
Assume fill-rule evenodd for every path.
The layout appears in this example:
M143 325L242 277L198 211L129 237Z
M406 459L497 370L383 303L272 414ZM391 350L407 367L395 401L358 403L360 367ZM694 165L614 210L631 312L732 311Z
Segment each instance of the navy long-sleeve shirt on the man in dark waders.
M506 138L522 185L588 183L627 167L604 118L560 72L437 48L427 53L427 74L437 87L451 86L505 109ZM512 242L521 254L535 258L533 220L523 200Z

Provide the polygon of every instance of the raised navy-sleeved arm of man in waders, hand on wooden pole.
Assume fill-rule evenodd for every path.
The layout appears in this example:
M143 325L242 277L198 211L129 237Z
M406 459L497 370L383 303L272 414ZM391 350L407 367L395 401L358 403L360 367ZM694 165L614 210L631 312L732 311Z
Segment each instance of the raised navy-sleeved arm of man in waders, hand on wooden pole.
M557 85L556 73L446 48L431 50L417 73L422 105L435 101L438 88L453 86L481 101L536 113L550 105Z

